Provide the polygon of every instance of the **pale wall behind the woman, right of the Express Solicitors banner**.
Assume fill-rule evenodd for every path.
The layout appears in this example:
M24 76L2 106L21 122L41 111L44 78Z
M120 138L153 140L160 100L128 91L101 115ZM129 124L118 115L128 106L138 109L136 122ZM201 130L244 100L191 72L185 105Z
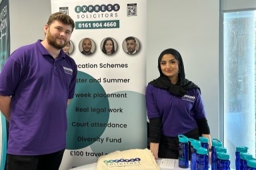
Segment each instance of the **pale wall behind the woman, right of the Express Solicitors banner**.
M147 82L166 48L181 53L187 79L202 92L211 136L219 138L219 1L147 1Z

